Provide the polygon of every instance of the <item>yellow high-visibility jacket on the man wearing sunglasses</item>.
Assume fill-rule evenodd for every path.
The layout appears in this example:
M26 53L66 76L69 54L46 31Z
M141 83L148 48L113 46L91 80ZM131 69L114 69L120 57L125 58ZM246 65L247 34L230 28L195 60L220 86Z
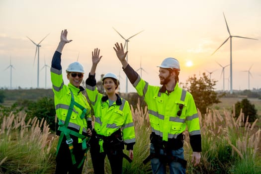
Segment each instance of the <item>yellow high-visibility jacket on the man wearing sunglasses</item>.
M61 53L55 52L53 59L61 59ZM81 92L84 88L75 87L70 83L66 86L63 81L62 69L58 70L54 68L53 63L51 67L51 81L53 84L55 109L59 119L59 125L65 123L67 112L72 100L71 92L73 92L75 102L85 108L86 114L83 115L83 110L75 105L69 120L68 128L73 128L74 130L77 130L78 133L87 135L87 121L90 122L91 117L90 106L87 102L87 98ZM78 142L81 143L82 140L79 138Z

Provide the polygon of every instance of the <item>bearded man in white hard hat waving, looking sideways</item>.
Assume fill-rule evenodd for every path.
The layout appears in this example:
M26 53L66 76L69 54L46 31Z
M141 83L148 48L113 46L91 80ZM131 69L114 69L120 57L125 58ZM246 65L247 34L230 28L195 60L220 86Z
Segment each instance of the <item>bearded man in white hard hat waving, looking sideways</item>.
M150 156L144 164L151 160L153 174L166 174L169 165L171 174L185 174L183 132L187 129L192 147L191 163L197 166L200 162L201 134L197 108L193 96L178 87L179 62L174 58L166 58L158 66L162 87L149 85L132 69L125 57L122 44L115 44L113 49L123 66L131 84L138 94L144 97L148 105L152 133L150 135Z

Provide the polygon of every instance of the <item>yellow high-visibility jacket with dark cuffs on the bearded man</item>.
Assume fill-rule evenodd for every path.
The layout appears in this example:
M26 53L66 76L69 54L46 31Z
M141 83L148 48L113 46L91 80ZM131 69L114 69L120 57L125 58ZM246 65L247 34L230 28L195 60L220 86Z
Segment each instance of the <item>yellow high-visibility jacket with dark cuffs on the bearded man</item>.
M178 83L171 93L168 93L165 86L151 86L129 65L124 72L148 105L152 132L162 137L163 141L168 141L176 138L187 127L193 151L201 152L199 118L191 93L178 87ZM180 116L178 112L181 112Z

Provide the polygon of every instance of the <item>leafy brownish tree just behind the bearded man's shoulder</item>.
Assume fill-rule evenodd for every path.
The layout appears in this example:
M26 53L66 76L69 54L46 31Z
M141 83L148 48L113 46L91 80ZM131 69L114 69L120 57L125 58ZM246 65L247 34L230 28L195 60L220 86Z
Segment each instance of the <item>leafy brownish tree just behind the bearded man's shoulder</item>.
M197 108L201 113L205 114L207 107L213 103L220 103L219 97L224 95L218 96L218 93L214 91L216 82L208 78L206 73L203 73L198 79L196 75L189 77L186 83L181 83L181 85L193 95Z

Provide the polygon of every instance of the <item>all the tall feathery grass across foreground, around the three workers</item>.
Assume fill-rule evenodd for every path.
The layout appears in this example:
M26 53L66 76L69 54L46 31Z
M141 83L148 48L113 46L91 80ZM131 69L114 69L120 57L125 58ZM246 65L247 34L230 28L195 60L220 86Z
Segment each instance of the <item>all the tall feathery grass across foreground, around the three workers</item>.
M150 163L142 162L149 155L151 128L147 107L131 106L136 133L134 159L123 160L124 174L150 174ZM230 111L209 109L202 115L198 110L202 153L198 167L190 163L192 150L189 135L185 131L184 156L188 161L187 174L261 174L259 143L261 129L244 120L241 112L238 119ZM52 174L55 169L55 151L58 137L50 136L44 120L36 118L25 123L26 114L0 118L0 174ZM51 138L50 138L51 137ZM128 155L128 151L124 150ZM105 173L111 174L108 160ZM83 174L93 174L89 153Z

